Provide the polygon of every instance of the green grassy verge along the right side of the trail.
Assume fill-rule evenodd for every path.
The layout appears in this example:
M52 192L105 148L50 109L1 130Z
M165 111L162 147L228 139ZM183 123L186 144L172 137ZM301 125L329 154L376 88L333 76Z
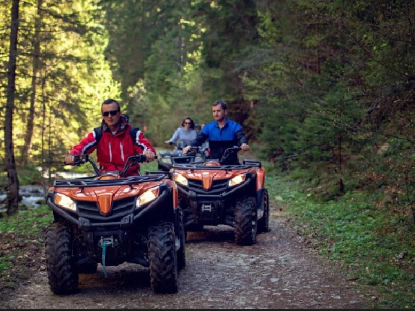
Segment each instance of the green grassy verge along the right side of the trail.
M337 201L318 203L287 178L268 176L271 197L305 243L340 263L349 279L375 290L374 308L415 308L413 221L388 210L383 198L349 192Z

